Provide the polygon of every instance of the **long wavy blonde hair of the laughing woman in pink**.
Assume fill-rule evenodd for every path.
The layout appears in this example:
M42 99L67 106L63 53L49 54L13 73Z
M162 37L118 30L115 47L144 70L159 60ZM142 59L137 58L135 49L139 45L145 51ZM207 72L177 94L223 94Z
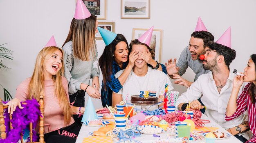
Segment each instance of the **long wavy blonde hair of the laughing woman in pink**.
M28 89L29 99L36 99L39 101L40 95L45 95L45 87L44 87L44 72L45 72L45 63L52 56L52 54L56 51L60 50L63 56L63 50L58 47L50 46L43 48L36 57L36 64L34 68L33 75L31 77ZM62 65L63 65L62 61ZM64 115L64 124L67 126L71 122L71 107L68 102L66 92L62 85L61 78L64 73L64 66L61 67L60 71L57 72L56 75L52 76L52 80L54 82L54 92L58 99L58 102L61 106L61 111Z

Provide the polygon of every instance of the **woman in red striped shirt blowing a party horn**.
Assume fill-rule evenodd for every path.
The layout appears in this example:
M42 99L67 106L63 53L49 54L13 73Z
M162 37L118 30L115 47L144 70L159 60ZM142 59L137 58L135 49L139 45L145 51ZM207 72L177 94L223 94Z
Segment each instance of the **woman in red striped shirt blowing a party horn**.
M244 76L237 75L233 81L233 89L227 104L226 120L232 120L243 114L246 110L249 115L249 126L252 130L252 139L246 143L256 143L256 54L252 54L247 67L244 69ZM238 91L243 82L249 82L240 97L237 99Z

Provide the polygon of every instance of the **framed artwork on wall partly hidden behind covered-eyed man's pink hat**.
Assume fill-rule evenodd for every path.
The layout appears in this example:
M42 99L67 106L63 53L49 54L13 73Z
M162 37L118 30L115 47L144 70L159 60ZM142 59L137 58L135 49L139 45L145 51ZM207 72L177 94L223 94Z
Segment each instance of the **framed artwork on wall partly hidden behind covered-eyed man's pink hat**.
M133 28L132 29L132 39L138 39L142 34L144 34L148 29ZM162 47L162 32L163 30L154 29L150 41L149 47L155 52L152 56L154 60L161 62L161 47Z

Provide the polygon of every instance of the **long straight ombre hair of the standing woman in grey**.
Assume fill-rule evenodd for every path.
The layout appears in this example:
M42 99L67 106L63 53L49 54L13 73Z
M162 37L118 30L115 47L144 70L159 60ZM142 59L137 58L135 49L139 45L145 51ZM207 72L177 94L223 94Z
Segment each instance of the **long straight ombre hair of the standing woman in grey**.
M70 24L70 31L63 43L72 41L74 57L82 61L92 61L96 55L95 29L97 17L91 15L83 20L73 18Z

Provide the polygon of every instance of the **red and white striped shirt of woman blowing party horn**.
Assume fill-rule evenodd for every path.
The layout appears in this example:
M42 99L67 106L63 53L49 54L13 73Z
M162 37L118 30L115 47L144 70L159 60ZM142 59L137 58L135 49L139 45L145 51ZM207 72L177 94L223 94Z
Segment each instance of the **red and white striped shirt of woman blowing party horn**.
M227 121L235 119L236 117L243 114L248 109L248 117L249 117L249 125L252 130L252 139L247 141L246 143L256 143L256 104L252 104L250 95L248 93L250 85L253 84L252 82L248 83L243 92L241 93L240 97L236 100L236 112L229 116L225 117Z

